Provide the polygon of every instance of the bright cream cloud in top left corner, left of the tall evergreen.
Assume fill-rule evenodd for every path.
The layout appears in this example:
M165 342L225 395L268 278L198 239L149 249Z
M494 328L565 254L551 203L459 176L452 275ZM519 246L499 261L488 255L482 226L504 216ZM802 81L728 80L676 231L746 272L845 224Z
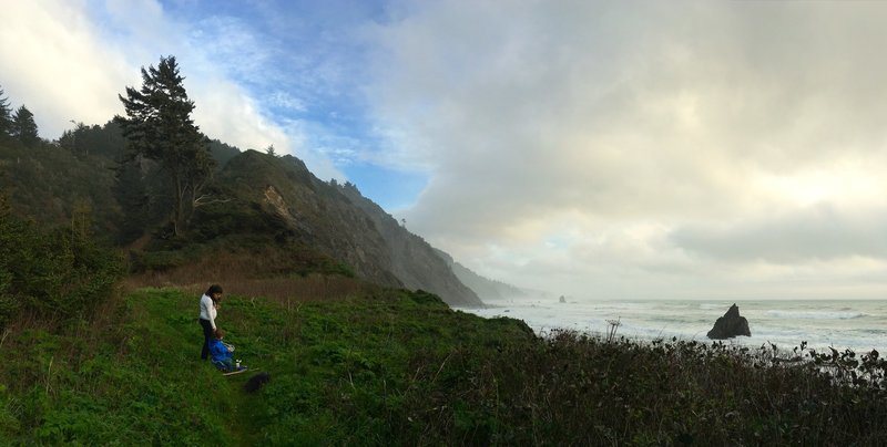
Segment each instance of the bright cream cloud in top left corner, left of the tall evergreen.
M10 2L0 27L0 85L10 103L34 113L43 136L69 121L105 123L121 110L118 92L137 71L102 44L82 2Z

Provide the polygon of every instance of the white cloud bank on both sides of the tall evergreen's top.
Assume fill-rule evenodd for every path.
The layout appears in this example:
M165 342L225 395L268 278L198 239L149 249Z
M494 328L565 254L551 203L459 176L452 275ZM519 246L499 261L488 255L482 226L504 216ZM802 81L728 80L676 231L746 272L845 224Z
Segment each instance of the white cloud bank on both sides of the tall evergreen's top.
M262 61L263 45L237 23L207 19L214 32L207 38L153 0L96 6L61 0L4 6L0 85L12 104L24 103L34 113L41 135L58 137L73 126L70 119L103 124L122 114L118 94L141 85L140 67L175 55L196 104L194 121L204 133L243 149L273 144L279 154L308 150L297 128L264 116L255 98L232 80L257 71L244 61Z

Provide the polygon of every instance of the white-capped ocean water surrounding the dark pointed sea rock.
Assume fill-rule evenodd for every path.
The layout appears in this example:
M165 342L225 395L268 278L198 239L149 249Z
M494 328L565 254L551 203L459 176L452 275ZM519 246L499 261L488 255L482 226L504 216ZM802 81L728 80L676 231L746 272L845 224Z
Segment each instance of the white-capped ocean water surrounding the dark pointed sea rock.
M705 334L735 302L748 320L752 336L725 343L759 347L773 343L792 351L801 342L817 351L834 347L887 353L886 300L755 300L755 301L568 301L488 302L487 309L460 309L485 318L523 320L538 335L567 329L606 334L608 321L619 321L616 336L711 342Z

